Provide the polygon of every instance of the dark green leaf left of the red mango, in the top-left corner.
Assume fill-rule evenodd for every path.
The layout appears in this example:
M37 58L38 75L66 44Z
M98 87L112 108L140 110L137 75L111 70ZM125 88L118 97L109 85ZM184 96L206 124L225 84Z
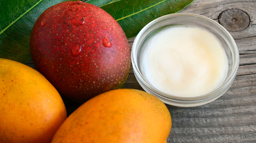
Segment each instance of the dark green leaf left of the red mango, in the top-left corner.
M0 0L0 58L21 63L31 58L30 34L47 8L69 0Z

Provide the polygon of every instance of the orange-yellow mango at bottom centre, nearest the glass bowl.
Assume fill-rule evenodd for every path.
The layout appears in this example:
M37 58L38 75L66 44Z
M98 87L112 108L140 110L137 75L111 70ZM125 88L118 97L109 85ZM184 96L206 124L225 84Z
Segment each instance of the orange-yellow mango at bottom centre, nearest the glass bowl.
M77 108L52 143L166 143L171 125L169 110L155 96L116 89Z

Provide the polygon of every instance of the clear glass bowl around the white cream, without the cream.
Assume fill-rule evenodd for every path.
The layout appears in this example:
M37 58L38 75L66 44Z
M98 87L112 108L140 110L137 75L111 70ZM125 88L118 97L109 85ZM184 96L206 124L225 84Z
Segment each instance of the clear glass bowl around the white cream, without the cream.
M214 91L197 97L178 97L166 94L153 87L145 78L142 68L142 54L146 40L163 27L172 25L190 25L211 32L222 44L228 59L228 72L221 85ZM199 106L214 101L231 86L239 67L239 52L235 40L228 31L217 22L197 14L174 13L162 16L147 24L137 35L132 46L132 65L140 86L148 93L158 97L162 102L174 106Z

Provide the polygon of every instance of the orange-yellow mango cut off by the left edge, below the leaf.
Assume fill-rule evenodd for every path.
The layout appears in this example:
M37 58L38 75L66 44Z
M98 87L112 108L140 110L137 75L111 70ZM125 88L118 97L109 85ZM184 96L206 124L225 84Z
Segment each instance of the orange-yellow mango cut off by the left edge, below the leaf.
M0 58L0 143L49 143L66 118L59 93L42 74Z

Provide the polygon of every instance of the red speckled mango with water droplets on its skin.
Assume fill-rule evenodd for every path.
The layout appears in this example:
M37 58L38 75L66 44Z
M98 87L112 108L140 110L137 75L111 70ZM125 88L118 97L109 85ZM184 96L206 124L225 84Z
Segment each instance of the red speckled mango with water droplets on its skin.
M128 76L128 40L117 21L94 5L69 1L48 8L35 22L30 41L36 69L73 101L84 103L121 88Z

